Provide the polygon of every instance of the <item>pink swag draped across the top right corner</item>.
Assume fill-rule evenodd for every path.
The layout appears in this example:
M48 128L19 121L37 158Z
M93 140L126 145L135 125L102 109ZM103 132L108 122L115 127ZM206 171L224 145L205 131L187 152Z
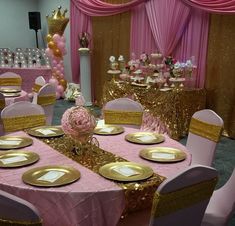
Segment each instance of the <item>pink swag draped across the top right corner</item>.
M210 13L235 13L235 0L181 0L186 4Z

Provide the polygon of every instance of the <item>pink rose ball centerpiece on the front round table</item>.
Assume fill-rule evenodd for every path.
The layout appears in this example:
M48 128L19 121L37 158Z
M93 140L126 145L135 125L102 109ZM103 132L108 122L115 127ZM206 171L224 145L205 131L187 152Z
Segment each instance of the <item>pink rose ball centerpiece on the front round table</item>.
M70 135L75 141L85 144L92 137L96 120L86 108L77 106L64 112L61 125L65 134Z

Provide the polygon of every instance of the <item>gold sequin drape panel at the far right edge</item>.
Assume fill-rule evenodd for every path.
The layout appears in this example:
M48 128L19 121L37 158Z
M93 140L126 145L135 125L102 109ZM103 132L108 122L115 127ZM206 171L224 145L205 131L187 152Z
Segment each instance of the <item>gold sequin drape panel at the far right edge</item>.
M235 138L235 16L211 15L207 56L207 108L224 120Z

